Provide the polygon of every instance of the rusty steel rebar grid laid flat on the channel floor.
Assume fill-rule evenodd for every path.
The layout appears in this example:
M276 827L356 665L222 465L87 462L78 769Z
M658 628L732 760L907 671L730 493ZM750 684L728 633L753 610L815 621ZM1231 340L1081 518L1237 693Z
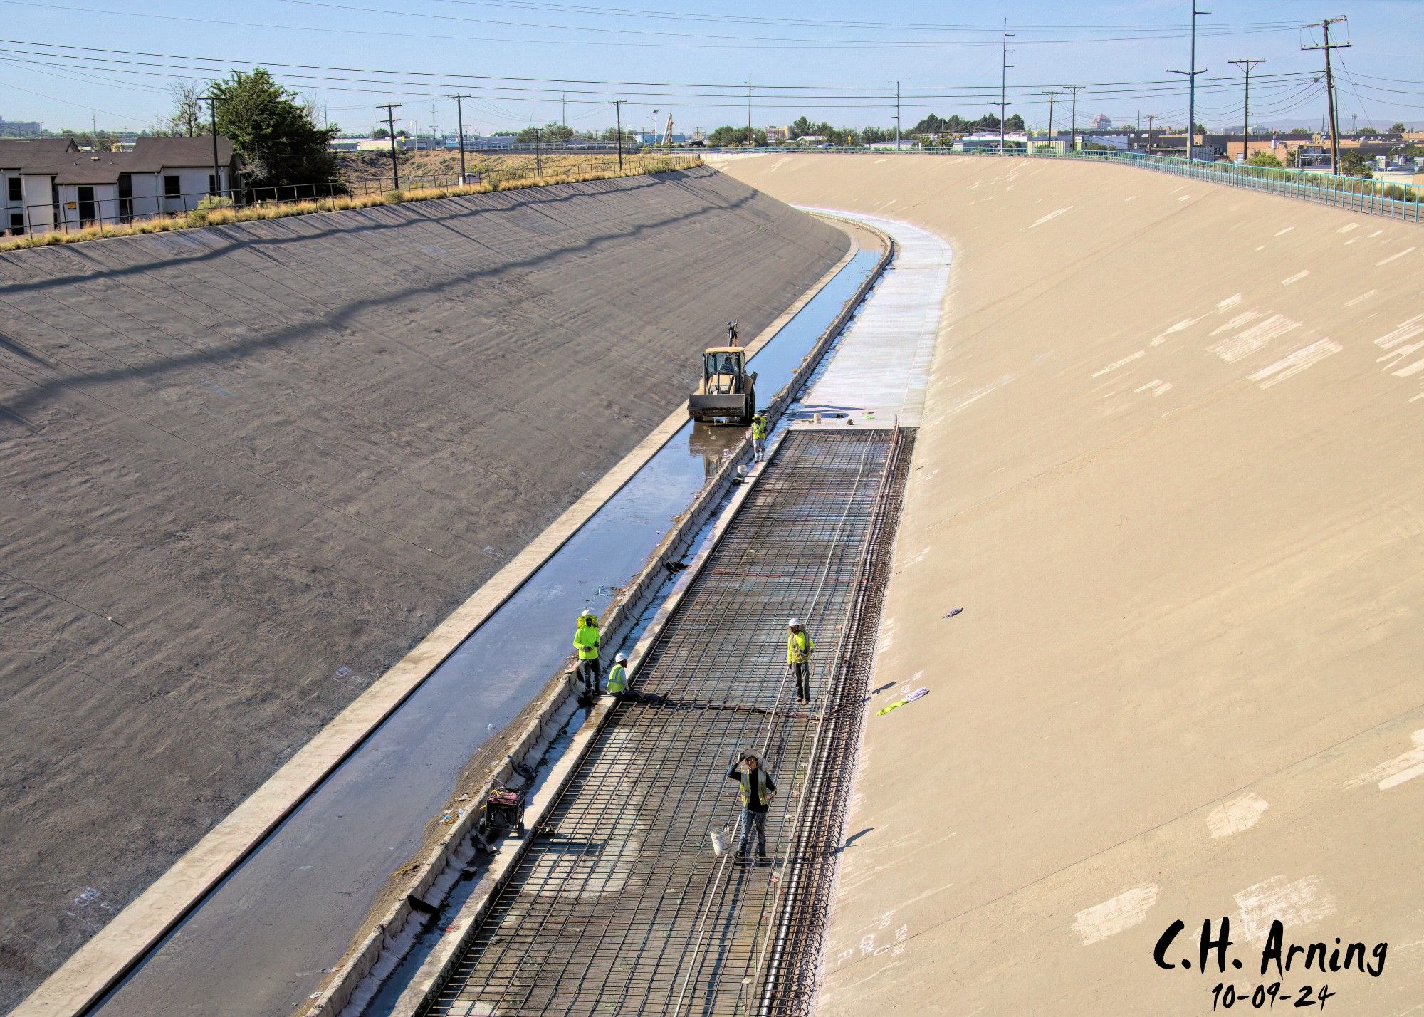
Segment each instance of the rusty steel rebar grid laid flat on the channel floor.
M889 430L787 434L634 675L662 702L609 715L426 1014L756 1008L780 863L871 523L884 517L891 446ZM816 640L809 708L795 705L786 668L793 615ZM725 775L743 749L763 753L780 789L766 819L772 867L729 865L708 836L735 825ZM809 815L824 823L822 812Z

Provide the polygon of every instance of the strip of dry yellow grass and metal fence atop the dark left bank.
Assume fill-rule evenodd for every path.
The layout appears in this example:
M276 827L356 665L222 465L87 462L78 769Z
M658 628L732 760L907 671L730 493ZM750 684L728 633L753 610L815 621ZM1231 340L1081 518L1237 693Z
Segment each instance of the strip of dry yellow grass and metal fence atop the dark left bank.
M525 152L520 152L521 155ZM560 181L568 177L587 177L592 174L611 172L619 170L617 155L594 155L578 161L570 161L564 154L527 152L535 157L534 167L510 167L497 170L483 170L467 174L461 181L457 174L429 175L429 174L400 174L402 194L410 191L453 189L466 185L500 185L513 181ZM671 162L669 162L671 160ZM696 162L696 157L664 155L664 154L625 154L622 157L622 172L646 171L658 164L669 162L669 168L686 168L678 165L686 162L688 167ZM26 234L48 232L78 232L100 226L127 226L144 222L162 222L195 217L205 211L218 208L252 208L252 207L282 207L300 202L322 201L330 198L362 198L373 194L390 194L397 191L392 179L366 181L326 181L320 184L283 184L281 187L241 187L215 195L212 191L177 192L165 191L158 195L125 195L121 191L100 192L105 185L93 185L80 189L77 198L56 199L34 205L9 205L4 208L6 219L0 221L0 238L23 236ZM88 197L84 197L88 191ZM231 202L231 204L229 204ZM19 217L16 222L10 217ZM195 221L194 225L202 225Z

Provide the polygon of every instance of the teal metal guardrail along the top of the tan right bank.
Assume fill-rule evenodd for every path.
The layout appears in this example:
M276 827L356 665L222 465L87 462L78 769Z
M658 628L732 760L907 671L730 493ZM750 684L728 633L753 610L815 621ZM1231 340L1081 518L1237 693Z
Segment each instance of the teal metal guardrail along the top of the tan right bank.
M711 152L806 152L815 155L844 155L856 152L874 152L877 155L899 157L957 157L957 158L1038 158L1038 160L1081 160L1091 162L1119 162L1169 172L1179 177L1192 177L1215 184L1243 187L1252 191L1279 194L1287 198L1313 201L1320 205L1334 205L1367 215L1381 215L1391 219L1407 219L1410 222L1424 222L1424 187L1417 184L1397 184L1384 179L1361 179L1360 177L1333 177L1324 172L1310 172L1309 170L1284 170L1276 167L1253 167L1243 162L1205 162L1202 160L1185 160L1173 155L1146 155L1143 152L1118 151L1007 151L1007 152L956 152L944 148L866 148L866 147L834 147L834 148L716 148Z

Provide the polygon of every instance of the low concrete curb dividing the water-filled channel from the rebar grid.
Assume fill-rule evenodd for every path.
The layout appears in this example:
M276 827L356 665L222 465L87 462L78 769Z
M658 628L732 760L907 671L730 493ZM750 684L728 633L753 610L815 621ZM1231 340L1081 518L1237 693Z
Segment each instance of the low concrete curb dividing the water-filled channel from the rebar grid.
M864 228L860 222L856 222L856 225ZM826 355L826 350L846 328L852 315L864 301L870 288L874 286L886 265L890 264L894 256L894 241L877 229L870 229L870 232L880 236L884 242L884 251L880 261L846 302L840 313L837 313L832 323L822 332L816 345L802 359L802 363L792 375L792 379L768 405L768 416L773 426L796 399L797 392L816 370L822 358ZM852 255L856 252L857 246L857 244L852 244ZM779 443L780 437L776 439L776 444ZM684 513L674 530L649 557L646 565L644 565L644 570L639 573L638 581L631 584L627 593L619 597L612 607L609 607L604 617L604 628L615 635L607 641L607 645L619 645L627 638L628 628L637 621L648 601L668 581L664 563L675 560L692 544L706 518L713 513L713 510L716 510L726 491L731 489L732 480L736 476L736 467L745 461L748 452L749 442L748 439L743 439L732 457L723 463L712 481L702 489L702 493L693 501L692 507ZM696 560L689 565L684 575L676 581L676 585L669 593L666 601L658 608L658 614L648 625L648 630L644 632L632 652L629 652L629 665L634 674L637 674L638 664L652 645L652 640L656 638L658 631L666 622L676 604L682 600L692 577L701 568L706 556L711 554L732 518L736 517L736 513L750 494L752 487L755 487L755 480L759 476L760 471L750 477L749 481L742 486L742 490L732 496L731 503L713 526L709 541L703 546L702 551L699 551ZM553 739L567 718L574 712L575 697L577 685L572 681L571 672L557 675L541 695L541 699L545 702L545 706L540 711L541 716L530 725L525 735L521 736L518 748L511 752L511 755L523 752L524 755L515 756L521 763L537 759L548 745L548 741ZM538 828L548 808L554 803L554 800L557 800L564 781L588 752L594 736L607 722L612 708L614 702L611 699L600 699L594 709L590 711L588 719L574 736L568 751L550 771L540 793L533 802L530 802L525 815L525 825L528 829L533 830ZM494 776L503 779L510 775L510 771L511 768L506 765ZM487 791L488 785L486 785L478 795L471 796L470 800L483 800ZM343 964L333 971L319 997L306 1007L299 1008L298 1013L306 1014L308 1017L335 1017L346 1013L347 1010L350 1014L360 1013L365 1004L379 989L382 977L394 970L404 951L414 942L414 933L407 932L407 926L410 926L410 916L414 913L414 909L410 904L410 895L420 899L423 904L439 906L443 903L459 875L459 866L463 866L466 860L474 855L474 848L470 843L470 833L477 820L478 815L476 812L471 810L466 813L466 816L456 823L450 833L431 849L426 860L420 865L416 873L413 873L412 883L409 885L409 893L402 897L400 903L387 912L383 920L362 942L356 951L349 954L346 961L343 961ZM414 1014L449 977L451 967L457 963L474 929L478 927L480 920L483 920L484 914L488 912L508 875L518 865L520 859L523 859L528 848L530 838L524 838L514 843L517 843L515 849L503 857L496 857L496 860L490 863L486 873L480 877L480 886L476 887L474 893L461 909L460 916L451 926L451 932L441 937L441 942L422 966L412 986L402 994L396 1004L396 1014ZM459 866L451 866L451 862L459 862ZM434 887L436 890L433 895L434 899L429 895L430 887ZM414 923L416 929L419 929L419 922Z

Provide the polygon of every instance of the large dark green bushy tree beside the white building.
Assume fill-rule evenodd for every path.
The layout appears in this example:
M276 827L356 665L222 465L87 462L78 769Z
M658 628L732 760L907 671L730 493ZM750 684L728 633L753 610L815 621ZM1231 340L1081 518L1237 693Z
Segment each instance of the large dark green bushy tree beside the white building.
M262 67L212 83L218 132L232 141L249 187L328 184L339 179L332 138L340 128L318 127L298 94Z

